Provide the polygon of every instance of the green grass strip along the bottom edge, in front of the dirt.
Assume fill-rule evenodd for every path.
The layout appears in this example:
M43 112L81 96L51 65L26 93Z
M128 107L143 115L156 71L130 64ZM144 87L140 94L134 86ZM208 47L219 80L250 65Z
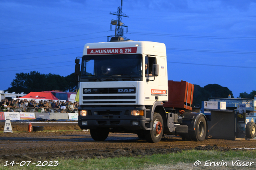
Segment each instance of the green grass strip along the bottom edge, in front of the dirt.
M212 162L228 162L229 168L241 168L238 166L232 166L231 161L235 162L236 160L240 161L251 161L254 162L249 169L256 168L256 150L230 150L226 152L222 151L205 151L205 150L187 150L179 153L171 154L154 154L152 156L136 156L136 157L116 157L116 158L104 158L104 159L65 159L58 158L58 166L36 166L30 164L29 166L19 166L11 165L4 166L0 165L0 170L33 170L33 169L51 169L51 170L144 170L144 169L161 169L159 167L165 167L166 169L172 168L178 164L184 165L184 169L192 167L193 169L199 168L199 166L194 166L194 162L200 160L202 165L207 160ZM48 160L49 162L50 160ZM9 161L10 162L10 161ZM43 162L43 161L42 161ZM36 162L35 162L36 163ZM53 164L54 165L54 164ZM163 168L163 169L165 169ZM245 167L242 167L245 168ZM180 168L178 168L180 169ZM208 168L209 169L209 168Z

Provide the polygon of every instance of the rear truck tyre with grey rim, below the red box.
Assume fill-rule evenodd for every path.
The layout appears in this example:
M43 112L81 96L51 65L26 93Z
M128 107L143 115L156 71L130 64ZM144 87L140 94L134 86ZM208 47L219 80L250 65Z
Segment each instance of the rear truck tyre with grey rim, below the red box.
M193 133L189 134L191 135L191 139L193 141L204 141L207 132L206 121L204 119L204 116L200 115L196 119L195 124L195 130L193 131Z

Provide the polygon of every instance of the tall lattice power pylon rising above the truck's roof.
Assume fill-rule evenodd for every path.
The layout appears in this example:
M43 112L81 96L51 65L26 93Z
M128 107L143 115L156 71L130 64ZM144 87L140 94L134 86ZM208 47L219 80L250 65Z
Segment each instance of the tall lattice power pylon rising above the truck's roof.
M126 40L129 40L127 37L124 36L124 28L126 27L126 33L128 33L128 26L122 23L122 17L128 17L126 14L122 12L123 0L121 0L121 7L117 8L117 12L110 13L112 15L116 15L116 20L111 20L110 23L110 30L112 30L112 25L116 25L115 35L110 35L108 37L123 37Z

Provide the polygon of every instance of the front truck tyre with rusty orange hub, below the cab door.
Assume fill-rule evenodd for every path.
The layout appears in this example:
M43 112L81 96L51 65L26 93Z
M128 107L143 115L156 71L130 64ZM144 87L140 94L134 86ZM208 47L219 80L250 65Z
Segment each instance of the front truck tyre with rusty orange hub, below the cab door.
M164 122L159 113L154 113L153 127L151 131L146 131L145 138L149 143L158 143L164 133Z

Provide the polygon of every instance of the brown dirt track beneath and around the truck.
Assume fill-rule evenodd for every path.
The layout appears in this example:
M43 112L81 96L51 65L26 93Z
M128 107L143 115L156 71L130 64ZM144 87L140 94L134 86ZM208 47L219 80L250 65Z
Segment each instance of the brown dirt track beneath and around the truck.
M77 123L32 123L45 130L77 130ZM4 122L0 122L0 131ZM64 158L104 158L114 156L150 155L154 153L179 152L181 149L256 148L256 141L229 141L207 139L203 142L182 141L180 137L165 136L159 143L140 140L136 134L110 133L106 141L94 141L88 131L27 132L28 123L12 122L13 131L0 133L0 158L4 161L51 160ZM198 147L202 146L202 147Z

